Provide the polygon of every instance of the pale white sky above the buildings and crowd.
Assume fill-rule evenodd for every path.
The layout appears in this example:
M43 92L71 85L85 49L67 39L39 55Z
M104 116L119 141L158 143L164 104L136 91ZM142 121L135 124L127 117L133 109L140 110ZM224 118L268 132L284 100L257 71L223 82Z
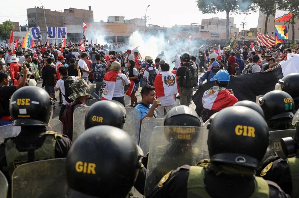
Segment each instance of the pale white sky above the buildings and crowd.
M26 8L32 8L35 5L41 6L38 0L14 0L12 4L2 4L0 23L8 19L10 21L19 22L20 25L25 25L27 20ZM91 10L94 11L94 22L103 20L107 22L107 16L125 16L125 19L141 18L145 15L147 5L150 5L147 9L147 16L150 16L151 20L147 24L159 25L161 27L172 27L173 25L190 25L191 23L201 24L202 19L209 19L212 17L219 17L225 19L226 13L214 14L202 14L198 10L195 0L185 1L170 1L170 0L142 0L142 1L123 1L115 0L104 3L103 1L58 1L41 0L43 6L46 9L51 10L64 10L70 7L80 8L88 10L88 6L91 6ZM71 2L71 3L70 3ZM86 2L82 5L82 2ZM134 3L136 2L136 3ZM211 0L211 2L213 2ZM105 7L104 7L105 6ZM183 9L184 8L184 9ZM13 10L13 12L12 12ZM230 15L234 17L234 23L237 24L239 30L242 30L240 25L243 22L245 14ZM257 27L258 13L251 13L246 17L244 29ZM28 23L27 23L28 24Z

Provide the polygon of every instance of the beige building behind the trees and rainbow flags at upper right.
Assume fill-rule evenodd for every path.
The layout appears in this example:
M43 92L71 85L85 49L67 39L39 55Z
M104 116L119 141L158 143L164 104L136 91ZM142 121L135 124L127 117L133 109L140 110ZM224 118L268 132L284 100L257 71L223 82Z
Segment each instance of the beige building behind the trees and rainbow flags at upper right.
M288 27L288 32L289 32L289 39L292 40L292 24L284 21L280 22L274 22L275 17L270 15L268 18L268 23L267 23L267 34L273 36L275 38L275 26L274 25L286 25ZM264 34L265 31L265 22L266 22L266 14L264 13L259 13L259 20L258 20L258 28L261 28L261 33ZM296 23L294 24L295 28L295 39L299 39L299 20L297 19ZM259 26L260 25L260 26Z

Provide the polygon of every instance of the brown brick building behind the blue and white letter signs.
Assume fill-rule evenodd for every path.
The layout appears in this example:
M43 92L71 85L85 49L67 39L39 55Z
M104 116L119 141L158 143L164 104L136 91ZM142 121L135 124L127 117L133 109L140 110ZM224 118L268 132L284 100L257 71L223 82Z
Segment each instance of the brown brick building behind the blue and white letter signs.
M45 15L44 15L45 11ZM28 8L28 28L39 26L42 37L47 38L46 25L50 27L64 27L65 25L81 25L83 21L93 22L91 6L88 10L69 8L64 10L50 10L43 8ZM45 21L46 19L46 21Z

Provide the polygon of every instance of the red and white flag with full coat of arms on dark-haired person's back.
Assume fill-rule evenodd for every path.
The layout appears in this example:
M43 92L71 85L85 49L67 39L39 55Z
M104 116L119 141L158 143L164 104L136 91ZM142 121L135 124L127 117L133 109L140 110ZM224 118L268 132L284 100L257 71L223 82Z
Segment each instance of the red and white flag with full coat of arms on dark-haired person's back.
M170 96L179 93L176 76L172 72L160 72L155 78L156 96Z

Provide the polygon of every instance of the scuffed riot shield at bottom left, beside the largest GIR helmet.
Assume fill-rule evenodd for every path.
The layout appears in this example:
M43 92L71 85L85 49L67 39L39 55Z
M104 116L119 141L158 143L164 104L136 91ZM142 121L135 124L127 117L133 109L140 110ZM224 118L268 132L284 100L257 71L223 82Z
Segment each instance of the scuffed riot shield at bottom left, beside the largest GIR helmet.
M12 198L62 198L66 189L65 158L22 164L12 175Z

